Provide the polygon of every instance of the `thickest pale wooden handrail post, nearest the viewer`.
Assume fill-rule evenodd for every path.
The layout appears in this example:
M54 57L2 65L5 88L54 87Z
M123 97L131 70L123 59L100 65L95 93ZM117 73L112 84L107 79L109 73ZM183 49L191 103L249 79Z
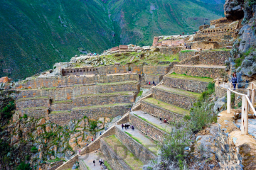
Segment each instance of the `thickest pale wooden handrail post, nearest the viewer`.
M248 135L248 101L242 96L241 135Z

